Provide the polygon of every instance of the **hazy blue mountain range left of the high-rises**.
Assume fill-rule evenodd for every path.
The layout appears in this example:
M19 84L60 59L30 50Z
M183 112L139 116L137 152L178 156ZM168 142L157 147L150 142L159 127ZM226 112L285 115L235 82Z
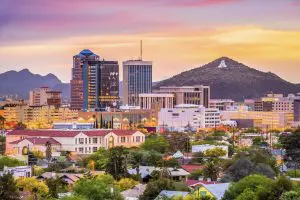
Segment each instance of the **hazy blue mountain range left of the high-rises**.
M0 74L0 96L18 95L20 98L28 98L30 90L41 86L60 90L65 98L70 96L70 85L62 83L54 74L41 76L31 73L28 69Z

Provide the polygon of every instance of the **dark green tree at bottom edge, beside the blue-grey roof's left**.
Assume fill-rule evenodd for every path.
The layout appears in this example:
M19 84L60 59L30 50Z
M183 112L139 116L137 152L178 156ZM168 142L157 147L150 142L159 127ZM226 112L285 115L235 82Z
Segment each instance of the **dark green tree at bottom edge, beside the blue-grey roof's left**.
M140 200L155 199L162 190L174 190L174 182L170 179L161 178L151 181L147 184L146 189Z

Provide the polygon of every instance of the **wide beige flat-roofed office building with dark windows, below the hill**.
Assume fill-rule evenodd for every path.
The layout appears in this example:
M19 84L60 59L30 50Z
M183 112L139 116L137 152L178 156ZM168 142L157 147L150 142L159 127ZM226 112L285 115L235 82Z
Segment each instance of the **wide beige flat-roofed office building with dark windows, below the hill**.
M174 94L174 105L179 104L195 104L209 107L210 102L210 87L209 86L164 86L155 93L170 93Z

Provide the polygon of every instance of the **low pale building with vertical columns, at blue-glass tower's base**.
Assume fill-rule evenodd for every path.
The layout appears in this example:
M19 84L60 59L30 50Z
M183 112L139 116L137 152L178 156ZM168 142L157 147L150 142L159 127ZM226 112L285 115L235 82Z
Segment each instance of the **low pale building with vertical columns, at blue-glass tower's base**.
M174 94L139 94L141 109L173 108Z

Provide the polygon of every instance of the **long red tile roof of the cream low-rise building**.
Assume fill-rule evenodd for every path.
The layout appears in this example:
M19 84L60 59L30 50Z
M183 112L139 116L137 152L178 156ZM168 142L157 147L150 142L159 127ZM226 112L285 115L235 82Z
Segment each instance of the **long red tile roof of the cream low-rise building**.
M13 130L7 135L39 136L39 137L75 137L79 133L87 136L105 136L108 133L114 133L119 136L133 135L137 131L133 130Z

